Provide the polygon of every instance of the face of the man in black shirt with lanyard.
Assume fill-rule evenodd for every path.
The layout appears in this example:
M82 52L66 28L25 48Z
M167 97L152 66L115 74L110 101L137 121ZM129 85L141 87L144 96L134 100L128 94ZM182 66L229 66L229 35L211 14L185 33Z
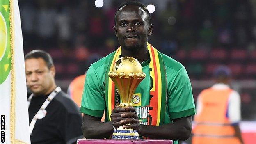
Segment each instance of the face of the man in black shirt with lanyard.
M55 68L48 69L42 58L25 60L27 86L35 95L46 95L54 85Z

